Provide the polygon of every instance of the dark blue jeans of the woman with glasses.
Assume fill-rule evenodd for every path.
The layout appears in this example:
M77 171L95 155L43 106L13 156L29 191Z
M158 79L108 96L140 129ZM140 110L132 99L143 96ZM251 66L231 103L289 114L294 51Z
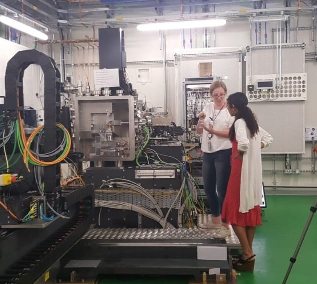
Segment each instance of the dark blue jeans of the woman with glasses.
M203 155L204 191L211 214L221 215L222 203L225 199L230 176L231 148Z

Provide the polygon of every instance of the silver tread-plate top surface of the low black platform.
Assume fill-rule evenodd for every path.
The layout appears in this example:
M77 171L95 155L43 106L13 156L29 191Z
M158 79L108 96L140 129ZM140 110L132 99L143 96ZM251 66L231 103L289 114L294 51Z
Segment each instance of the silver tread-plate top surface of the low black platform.
M199 215L198 226L201 223L209 221L211 215ZM84 240L98 241L108 245L123 245L123 243L133 244L140 242L149 243L151 245L162 245L166 246L168 243L175 245L186 244L217 244L226 245L228 248L240 248L239 240L230 226L231 236L224 240L215 239L215 233L217 230L208 230L200 228L179 228L179 229L141 229L141 228L94 228L90 229L83 237ZM147 240L151 240L147 242ZM153 241L156 242L153 242Z

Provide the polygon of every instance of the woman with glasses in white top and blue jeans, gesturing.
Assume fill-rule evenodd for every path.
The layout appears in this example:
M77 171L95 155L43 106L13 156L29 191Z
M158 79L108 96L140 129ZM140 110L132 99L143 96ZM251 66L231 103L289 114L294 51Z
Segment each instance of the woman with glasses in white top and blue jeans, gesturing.
M204 190L212 219L204 229L221 228L221 208L226 195L230 175L231 142L229 128L234 119L227 110L227 87L222 81L214 81L209 88L213 102L199 113L197 133L202 134Z

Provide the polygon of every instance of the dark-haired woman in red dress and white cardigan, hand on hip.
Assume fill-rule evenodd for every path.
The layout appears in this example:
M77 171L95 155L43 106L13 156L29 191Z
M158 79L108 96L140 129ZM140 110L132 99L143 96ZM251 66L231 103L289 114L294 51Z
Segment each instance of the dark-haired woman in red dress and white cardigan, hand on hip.
M233 263L234 268L253 271L253 237L256 226L262 224L261 148L269 146L273 138L258 126L247 104L247 96L240 92L230 95L227 100L227 108L235 117L229 131L232 141L231 173L222 208L222 219L226 223L216 237L230 235L227 224L231 224L242 248L242 255Z

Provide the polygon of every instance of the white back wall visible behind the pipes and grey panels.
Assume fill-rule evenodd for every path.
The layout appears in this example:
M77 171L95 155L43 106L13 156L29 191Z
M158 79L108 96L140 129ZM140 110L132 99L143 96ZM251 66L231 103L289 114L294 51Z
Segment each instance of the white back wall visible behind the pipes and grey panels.
M311 26L311 16L308 14L300 15L299 18L299 27ZM296 21L294 18L291 18L291 27L296 26ZM279 27L279 26L278 26ZM272 43L273 40L276 42L275 36L272 38L272 28L276 28L276 24L268 23L267 25L267 43ZM135 26L124 28L125 32L125 49L127 53L127 61L153 61L153 60L163 60L163 51L160 49L160 36L159 32L147 32L142 33L136 30ZM255 32L254 26L252 27L252 44L255 44ZM276 34L276 33L274 33ZM71 31L72 39L84 39L85 37L93 37L93 30L90 28L83 29L74 29ZM96 29L96 37L98 35ZM175 49L183 48L183 33L180 31L168 31L166 35L166 59L174 60ZM221 28L215 29L215 40L214 40L214 30L213 28L209 29L209 46L210 47L229 47L229 46L241 46L242 51L245 52L246 46L250 45L250 29L249 22L247 19L235 20L233 23L228 22L227 25ZM312 31L304 30L299 31L298 42L304 42L306 44L305 52L315 52L316 51L316 32L314 35L314 40L312 40ZM296 41L296 31L291 31L291 42ZM203 29L192 30L192 47L202 48L203 45ZM186 48L190 48L189 44L190 35L189 31L185 32L185 41ZM264 23L262 23L262 36L261 42L264 43ZM77 60L77 48L70 46L70 50L73 51L73 60L71 60L70 55L66 57L67 64L76 64L79 61L87 62L87 56L89 55L90 63L92 62L92 48L87 44L82 44L85 47L86 56L82 58L82 49L79 52L79 60ZM88 51L87 51L88 50ZM95 50L94 60L98 62L98 52ZM59 46L55 45L54 54L56 61L58 62L59 58ZM292 60L292 58L289 58ZM306 126L317 126L316 118L316 105L317 105L317 80L315 79L317 63L314 61L306 61L305 64L306 72L308 74L308 99L305 102L305 125ZM231 68L231 66L226 66ZM95 66L98 68L98 66ZM151 80L147 83L137 83L136 82L136 72L137 68L150 68L151 70ZM193 70L197 68L196 63L192 66ZM82 69L82 68L81 68ZM92 67L90 69L93 69ZM192 71L192 73L197 72ZM153 106L163 107L164 106L164 80L163 80L163 66L162 64L128 64L127 72L129 75L129 80L133 84L133 88L136 88L140 92L140 98L143 99L145 95L147 101ZM79 71L79 74L82 74L83 71ZM86 71L87 73L87 66ZM89 73L89 72L88 72ZM67 66L67 74L73 75L74 82L77 83L78 79L78 70L76 66ZM93 76L92 70L87 74L90 85L93 86ZM175 73L174 64L167 64L167 107L170 109L170 112L175 116L175 113L179 110L180 106L175 105L175 80L177 79L177 74ZM79 79L86 81L86 78L79 76ZM242 83L244 84L244 82ZM232 90L234 91L234 90ZM294 114L296 115L296 114ZM294 134L296 135L296 133ZM285 143L292 143L292 141L285 141ZM306 144L306 152L304 155L298 155L299 158L299 169L303 170L300 175L285 175L284 170L284 161L283 156L277 155L276 158L282 159L276 161L275 167L277 173L274 175L272 172L264 173L264 182L266 185L278 185L278 186L314 186L317 182L317 174L312 174L310 171L312 169L312 160L309 158L312 156L312 145L310 143ZM293 156L295 157L295 155ZM295 169L296 161L292 160L292 169ZM273 160L264 161L265 170L273 170L274 163ZM307 171L307 172L305 172Z

